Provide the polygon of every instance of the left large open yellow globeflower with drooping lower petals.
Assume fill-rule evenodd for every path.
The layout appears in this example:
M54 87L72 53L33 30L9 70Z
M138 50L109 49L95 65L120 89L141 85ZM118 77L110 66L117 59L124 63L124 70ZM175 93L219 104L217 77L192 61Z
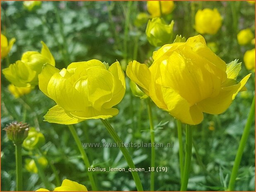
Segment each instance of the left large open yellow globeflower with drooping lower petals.
M112 107L123 99L126 83L119 62L109 66L92 59L61 71L46 64L39 74L39 88L57 103L45 121L68 125L117 115L118 109Z

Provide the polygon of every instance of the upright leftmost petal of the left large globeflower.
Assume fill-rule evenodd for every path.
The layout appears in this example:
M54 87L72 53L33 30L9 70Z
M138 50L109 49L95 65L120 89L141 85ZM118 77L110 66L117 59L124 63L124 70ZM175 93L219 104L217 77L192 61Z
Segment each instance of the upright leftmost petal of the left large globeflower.
M48 91L47 91L47 87L48 87L48 83L51 79L51 77L53 76L54 73L59 73L60 70L55 68L54 66L46 63L43 66L42 72L38 75L38 79L39 79L39 89L48 97Z

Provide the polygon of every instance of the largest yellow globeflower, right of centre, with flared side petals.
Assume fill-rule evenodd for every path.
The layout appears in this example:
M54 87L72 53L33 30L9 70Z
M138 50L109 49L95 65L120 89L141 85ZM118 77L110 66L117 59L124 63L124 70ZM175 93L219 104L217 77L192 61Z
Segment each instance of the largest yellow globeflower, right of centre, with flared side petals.
M128 77L159 108L191 125L203 120L203 112L224 112L251 75L237 82L241 63L235 60L225 64L200 35L164 45L154 52L153 59L149 68L130 62Z

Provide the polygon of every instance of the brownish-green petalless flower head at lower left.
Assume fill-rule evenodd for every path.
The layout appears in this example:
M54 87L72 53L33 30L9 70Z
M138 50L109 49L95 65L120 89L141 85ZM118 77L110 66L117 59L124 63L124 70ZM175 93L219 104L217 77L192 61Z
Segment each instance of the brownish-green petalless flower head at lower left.
M14 145L22 144L26 139L29 132L29 125L27 123L22 123L14 121L3 129L6 131L7 137L13 141Z

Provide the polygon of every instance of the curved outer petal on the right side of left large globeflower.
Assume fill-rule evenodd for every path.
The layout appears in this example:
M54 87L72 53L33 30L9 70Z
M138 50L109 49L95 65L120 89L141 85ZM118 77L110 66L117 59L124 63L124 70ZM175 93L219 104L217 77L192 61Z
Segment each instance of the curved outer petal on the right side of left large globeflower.
M109 67L109 72L114 76L115 89L111 100L104 103L102 106L106 109L109 109L121 102L126 92L126 79L119 62L111 64L111 66Z

